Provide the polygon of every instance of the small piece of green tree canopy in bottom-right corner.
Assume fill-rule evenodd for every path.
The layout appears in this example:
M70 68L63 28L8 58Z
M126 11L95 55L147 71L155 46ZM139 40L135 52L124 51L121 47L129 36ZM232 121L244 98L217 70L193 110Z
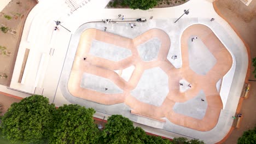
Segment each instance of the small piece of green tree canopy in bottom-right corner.
M243 135L237 140L237 144L254 144L256 143L256 127L252 130L243 132Z

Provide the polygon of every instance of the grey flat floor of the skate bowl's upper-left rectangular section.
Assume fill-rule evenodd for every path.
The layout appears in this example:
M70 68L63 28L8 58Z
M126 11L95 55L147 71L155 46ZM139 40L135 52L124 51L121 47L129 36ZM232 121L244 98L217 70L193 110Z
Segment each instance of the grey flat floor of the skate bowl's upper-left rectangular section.
M109 59L110 61L121 61L132 55L131 50L124 47L107 44L102 41L92 40L90 54L96 57Z

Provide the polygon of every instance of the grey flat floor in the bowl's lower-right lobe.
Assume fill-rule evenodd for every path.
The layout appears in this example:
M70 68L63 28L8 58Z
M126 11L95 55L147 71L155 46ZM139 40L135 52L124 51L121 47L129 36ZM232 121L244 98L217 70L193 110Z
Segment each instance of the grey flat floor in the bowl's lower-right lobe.
M201 99L205 101L201 101ZM207 100L205 93L201 90L195 98L186 101L185 103L175 103L173 110L176 113L186 115L189 117L202 119L205 116L207 109Z

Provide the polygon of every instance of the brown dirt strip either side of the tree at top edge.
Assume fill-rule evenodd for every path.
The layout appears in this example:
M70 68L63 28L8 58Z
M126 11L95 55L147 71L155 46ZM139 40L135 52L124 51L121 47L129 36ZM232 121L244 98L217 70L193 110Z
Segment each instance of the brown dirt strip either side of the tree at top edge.
M158 5L156 5L154 8L168 8L168 7L175 7L177 5L181 5L184 4L186 2L188 2L189 0L159 0ZM122 5L121 3L123 2L123 0L111 0L109 1L109 3L107 4L106 8L129 8L129 7L125 7L124 5Z

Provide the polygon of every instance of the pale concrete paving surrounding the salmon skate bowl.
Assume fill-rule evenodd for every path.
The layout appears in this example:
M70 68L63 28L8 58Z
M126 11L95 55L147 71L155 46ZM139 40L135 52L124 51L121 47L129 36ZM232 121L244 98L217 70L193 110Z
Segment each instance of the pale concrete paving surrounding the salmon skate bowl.
M215 13L212 3L205 0L191 0L184 5L174 8L142 11L131 9L103 9L104 4L107 2L108 1L91 1L87 5L85 4L85 6L82 8L79 8L77 11L74 11L73 14L70 13L70 9L63 1L44 1L36 5L26 21L24 34L22 35L17 57L18 60L16 61L14 69L14 72L16 73L13 75L11 87L30 93L34 92L35 87L44 88L43 94L48 97L50 101L54 101L57 106L68 103L77 103L80 105L86 105L88 107L97 107L96 110L98 112L95 114L96 117L109 116L108 114L119 113L120 110L124 110L125 112L121 113L122 115L129 117L132 121L136 122L136 125L139 125L146 131L150 131L154 134L163 135L170 138L183 135L190 138L194 137L201 139L207 143L215 143L221 140L225 134L228 133L232 124L231 116L233 116L235 113L238 99L240 97L240 95L237 94L241 92L243 82L245 81L248 57L242 41L237 37L232 28ZM173 22L177 19L177 17L183 14L184 9L190 9L190 14L184 15L182 19L179 20L176 25L174 25ZM52 15L53 13L55 13L55 15ZM62 89L63 87L67 87L65 82L63 82L62 76L68 71L66 67L63 67L63 63L71 63L71 65L73 63L74 57L68 57L67 55L67 52L70 51L68 47L74 46L73 43L69 44L71 37L77 37L75 33L79 31L79 26L86 22L101 21L102 19L117 19L117 16L120 13L125 15L127 20L136 19L137 17L146 17L149 20L149 17L153 16L153 20L144 23L145 25L140 26L140 28L148 30L161 27L161 29L168 33L170 39L173 41L171 41L171 47L177 48L174 49L176 51L169 51L169 56L173 55L174 53L178 53L178 56L181 55L182 49L178 49L178 47L182 46L179 38L181 38L181 34L184 29L196 23L201 23L210 27L212 32L230 51L233 61L231 70L228 72L229 76L226 75L223 79L221 89L226 89L226 91L220 92L220 97L222 97L224 107L220 111L216 127L210 131L197 131L173 124L172 122L168 121L168 119L165 119L166 123L163 124L161 122L155 122L152 119L131 115L129 114L129 110L131 110L130 107L124 104L99 106L100 104L92 102L90 103L90 101L84 103L82 99L75 99L75 97L67 98L69 92ZM212 17L215 19L214 22L210 22ZM71 31L71 33L62 27L60 27L60 31L54 31L54 20L60 20L62 22L61 24ZM166 23L168 23L168 25L166 25ZM127 24L126 27L126 31L129 32L129 24ZM102 28L103 27L98 27L97 29ZM173 31L173 29L177 29L178 31ZM108 27L108 30L110 32L114 32L115 27ZM139 35L142 31L130 32L132 35ZM129 33L118 31L115 34L120 34L126 37L125 34ZM19 75L20 67L22 65L21 59L24 56L26 48L31 50L31 54L27 61L28 66L26 68L27 72L24 79L25 83L21 84L17 83L17 75ZM55 50L54 55L49 55L48 53L53 49ZM75 50L73 51L74 52L72 55L74 56ZM44 58L42 58L42 55L44 55ZM182 61L172 64L175 68L179 68L182 65ZM42 66L40 67L40 65ZM40 71L42 68L44 70ZM38 71L41 73L38 73ZM59 79L60 75L61 79ZM65 85L62 85L61 83L64 83ZM225 94L227 94L227 96L223 97ZM111 111L111 113L104 113L104 111ZM150 127L140 125L138 123L147 124Z

